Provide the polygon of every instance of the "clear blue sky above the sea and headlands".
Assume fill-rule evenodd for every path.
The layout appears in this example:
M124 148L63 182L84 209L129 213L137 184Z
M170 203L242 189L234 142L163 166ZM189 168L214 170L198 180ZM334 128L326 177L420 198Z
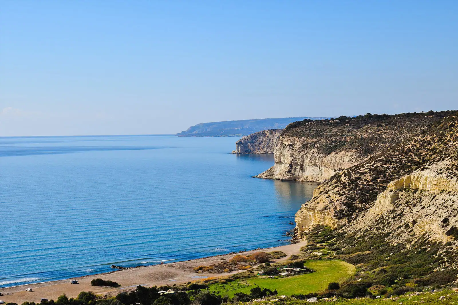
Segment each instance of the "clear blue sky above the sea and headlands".
M458 109L458 1L0 1L0 136Z

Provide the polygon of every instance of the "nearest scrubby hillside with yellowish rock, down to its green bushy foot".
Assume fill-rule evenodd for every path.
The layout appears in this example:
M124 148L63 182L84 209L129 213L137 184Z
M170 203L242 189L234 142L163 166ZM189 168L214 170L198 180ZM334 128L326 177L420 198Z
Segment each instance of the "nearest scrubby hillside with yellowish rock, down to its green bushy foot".
M295 238L308 242L302 257L357 266L343 295L389 297L456 284L458 111L445 114L426 128L411 120L419 132L393 137L395 144L338 171L296 213Z

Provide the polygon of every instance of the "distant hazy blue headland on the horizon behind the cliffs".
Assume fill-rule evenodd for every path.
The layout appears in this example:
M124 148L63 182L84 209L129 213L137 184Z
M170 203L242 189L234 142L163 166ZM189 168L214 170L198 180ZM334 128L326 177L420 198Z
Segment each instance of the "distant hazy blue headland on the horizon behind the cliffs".
M200 123L177 133L177 136L247 136L267 129L283 129L291 122L305 119L324 118L291 117Z

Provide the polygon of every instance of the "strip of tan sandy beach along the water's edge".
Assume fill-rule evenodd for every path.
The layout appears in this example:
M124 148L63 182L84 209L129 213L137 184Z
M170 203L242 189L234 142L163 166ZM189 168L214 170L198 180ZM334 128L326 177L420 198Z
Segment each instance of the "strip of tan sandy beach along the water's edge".
M286 260L290 255L297 254L300 252L300 247L304 243L283 245L279 247L258 249L253 251L246 251L244 255L259 252L259 251L283 251L286 253L286 257L273 260L283 261ZM56 300L61 294L66 294L69 298L76 297L81 291L93 291L96 294L108 294L109 296L116 295L123 291L129 291L135 289L137 285L142 286L163 286L182 284L187 282L193 282L200 280L204 277L220 277L242 272L242 270L228 272L228 273L196 273L194 267L208 266L216 264L221 261L221 258L229 260L236 254L228 254L223 256L212 256L207 258L200 258L191 261L179 261L163 265L138 267L132 269L119 270L109 273L87 275L79 278L69 278L66 280L35 283L22 286L14 286L1 288L0 300L6 303L13 302L22 304L25 301L40 302L40 299L45 298L48 300ZM91 286L91 280L94 278L102 278L104 280L111 280L119 283L120 288L110 287L97 287ZM79 284L71 284L71 280L78 280ZM27 288L32 288L33 292L26 291Z

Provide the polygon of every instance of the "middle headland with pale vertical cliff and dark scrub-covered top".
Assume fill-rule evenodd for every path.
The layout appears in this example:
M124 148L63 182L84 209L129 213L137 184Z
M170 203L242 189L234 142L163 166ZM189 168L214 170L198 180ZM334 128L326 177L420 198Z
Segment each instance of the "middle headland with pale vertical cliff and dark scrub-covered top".
M443 117L441 113L366 115L294 122L278 141L274 166L258 177L323 182L420 134Z

